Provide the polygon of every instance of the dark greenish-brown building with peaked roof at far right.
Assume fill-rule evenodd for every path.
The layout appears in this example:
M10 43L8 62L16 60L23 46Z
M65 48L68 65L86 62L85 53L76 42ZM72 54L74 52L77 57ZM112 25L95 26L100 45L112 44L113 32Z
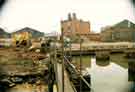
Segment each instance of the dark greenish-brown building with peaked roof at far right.
M101 31L104 42L135 42L135 24L124 20L114 26L105 27Z

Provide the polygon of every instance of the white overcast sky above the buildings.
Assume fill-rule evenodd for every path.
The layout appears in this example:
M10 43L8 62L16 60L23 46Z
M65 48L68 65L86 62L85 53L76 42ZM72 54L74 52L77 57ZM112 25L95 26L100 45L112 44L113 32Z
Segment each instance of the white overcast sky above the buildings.
M89 21L93 32L124 19L135 23L131 0L8 0L0 14L0 27L13 32L24 27L60 32L68 13Z

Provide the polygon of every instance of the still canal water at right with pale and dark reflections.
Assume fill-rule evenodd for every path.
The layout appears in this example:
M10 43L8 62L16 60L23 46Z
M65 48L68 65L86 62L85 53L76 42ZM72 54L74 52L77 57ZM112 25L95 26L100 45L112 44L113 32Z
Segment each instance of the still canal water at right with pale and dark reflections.
M73 57L79 66L80 57ZM91 74L92 92L131 92L128 81L128 59L123 54L111 55L108 61L97 61L93 56L82 56L83 73ZM134 91L135 92L135 91Z

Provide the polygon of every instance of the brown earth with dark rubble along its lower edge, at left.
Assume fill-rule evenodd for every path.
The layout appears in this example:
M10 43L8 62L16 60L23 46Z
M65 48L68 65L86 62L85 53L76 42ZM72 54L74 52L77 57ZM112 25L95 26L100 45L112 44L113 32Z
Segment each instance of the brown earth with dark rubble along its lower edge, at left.
M0 48L0 84L37 83L48 71L46 54L19 48ZM47 79L46 79L47 80ZM45 81L44 81L45 82Z

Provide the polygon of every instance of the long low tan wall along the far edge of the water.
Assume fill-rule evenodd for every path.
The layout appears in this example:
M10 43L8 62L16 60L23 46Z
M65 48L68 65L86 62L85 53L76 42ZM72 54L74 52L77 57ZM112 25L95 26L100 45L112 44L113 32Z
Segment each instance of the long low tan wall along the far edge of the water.
M81 45L81 51L80 51ZM60 53L60 51L58 51ZM132 42L100 42L100 43L81 43L81 44L71 44L71 47L65 48L65 53L72 55L96 55L100 52L103 53L133 53L135 52L135 43Z

